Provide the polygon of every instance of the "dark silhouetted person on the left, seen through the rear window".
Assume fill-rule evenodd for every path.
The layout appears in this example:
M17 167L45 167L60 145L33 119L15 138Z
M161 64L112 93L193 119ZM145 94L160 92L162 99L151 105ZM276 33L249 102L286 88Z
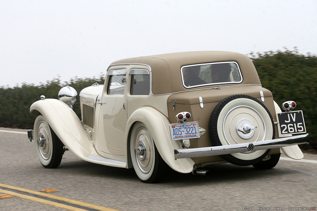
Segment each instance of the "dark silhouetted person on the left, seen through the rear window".
M191 66L183 68L183 77L185 86L195 86L200 84L208 84L199 78L200 66Z

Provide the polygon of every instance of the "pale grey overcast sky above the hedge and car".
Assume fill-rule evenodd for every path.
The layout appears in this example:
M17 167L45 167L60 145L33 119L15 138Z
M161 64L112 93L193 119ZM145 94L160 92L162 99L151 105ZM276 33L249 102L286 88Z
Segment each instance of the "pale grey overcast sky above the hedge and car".
M317 54L316 39L316 0L0 0L0 86L98 77L161 53Z

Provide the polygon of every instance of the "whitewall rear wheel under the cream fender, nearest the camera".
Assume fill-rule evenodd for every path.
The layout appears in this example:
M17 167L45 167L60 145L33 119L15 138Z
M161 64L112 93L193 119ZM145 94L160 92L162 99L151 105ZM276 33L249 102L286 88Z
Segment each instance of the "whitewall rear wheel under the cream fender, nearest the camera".
M159 182L163 176L165 163L155 147L146 126L137 122L132 129L130 152L133 168L144 183Z

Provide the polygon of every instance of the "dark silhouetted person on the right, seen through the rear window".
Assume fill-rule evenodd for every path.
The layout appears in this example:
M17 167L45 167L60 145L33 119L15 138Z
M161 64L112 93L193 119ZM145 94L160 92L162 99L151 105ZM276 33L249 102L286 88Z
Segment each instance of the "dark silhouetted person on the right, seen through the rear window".
M231 65L229 63L210 66L212 83L230 82Z

